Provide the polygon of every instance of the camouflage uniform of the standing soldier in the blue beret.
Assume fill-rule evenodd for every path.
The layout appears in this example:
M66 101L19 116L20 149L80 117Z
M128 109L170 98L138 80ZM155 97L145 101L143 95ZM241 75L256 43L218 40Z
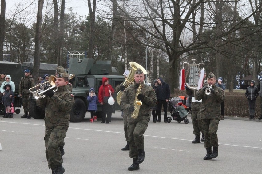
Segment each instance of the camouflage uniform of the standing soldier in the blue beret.
M30 91L29 89L34 87L34 79L30 76L24 76L21 78L20 84L19 84L19 94L22 94L22 98L23 98L23 109L24 112L28 112L28 104L29 104L29 95L30 95ZM27 100L27 101L26 101Z

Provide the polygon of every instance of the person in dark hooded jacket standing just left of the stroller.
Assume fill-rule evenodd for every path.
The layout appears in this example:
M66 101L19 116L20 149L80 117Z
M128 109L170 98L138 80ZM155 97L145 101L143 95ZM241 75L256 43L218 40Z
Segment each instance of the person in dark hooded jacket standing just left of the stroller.
M161 121L161 109L162 105L164 108L164 122L166 122L167 118L167 102L170 97L170 88L169 85L163 81L162 78L157 78L158 86L155 89L157 94L157 115L158 115L158 122Z

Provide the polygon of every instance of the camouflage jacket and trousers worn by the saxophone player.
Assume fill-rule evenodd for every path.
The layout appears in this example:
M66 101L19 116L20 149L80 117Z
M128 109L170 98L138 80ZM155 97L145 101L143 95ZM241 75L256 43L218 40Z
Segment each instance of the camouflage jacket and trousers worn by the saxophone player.
M154 107L157 102L157 96L151 86L141 84L141 94L145 95L145 98L141 101L143 104L139 109L139 114L136 119L131 117L129 108L134 105L136 91L139 84L134 83L127 87L121 97L121 108L127 113L127 131L129 137L129 157L137 158L138 149L144 149L144 136L145 130L147 129L148 122L150 120L150 106Z

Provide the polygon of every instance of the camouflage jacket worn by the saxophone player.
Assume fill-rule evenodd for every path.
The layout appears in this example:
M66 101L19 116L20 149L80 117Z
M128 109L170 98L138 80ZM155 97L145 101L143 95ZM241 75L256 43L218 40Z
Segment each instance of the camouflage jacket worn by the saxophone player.
M131 112L129 112L129 107L134 105L134 100L136 96L136 87L137 84L134 83L125 89L123 95L121 97L121 108L127 112L127 116L131 116ZM138 118L146 118L148 121L150 120L150 106L154 107L157 103L157 95L151 86L141 84L141 94L145 95L145 98L141 101L143 104L141 105L138 113Z

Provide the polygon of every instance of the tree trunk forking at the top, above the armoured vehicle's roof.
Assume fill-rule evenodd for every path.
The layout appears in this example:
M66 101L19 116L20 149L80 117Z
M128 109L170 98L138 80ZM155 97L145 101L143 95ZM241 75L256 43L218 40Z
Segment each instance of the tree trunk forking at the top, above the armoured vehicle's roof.
M90 15L90 35L89 35L87 58L93 58L95 19L96 19L96 0L93 0L93 10L91 7L91 0L88 0L88 9L89 9L89 15Z

